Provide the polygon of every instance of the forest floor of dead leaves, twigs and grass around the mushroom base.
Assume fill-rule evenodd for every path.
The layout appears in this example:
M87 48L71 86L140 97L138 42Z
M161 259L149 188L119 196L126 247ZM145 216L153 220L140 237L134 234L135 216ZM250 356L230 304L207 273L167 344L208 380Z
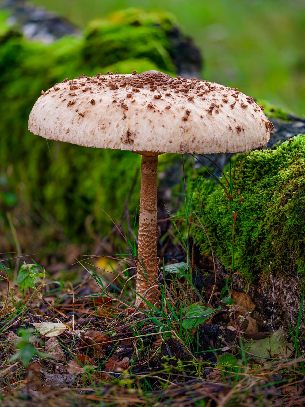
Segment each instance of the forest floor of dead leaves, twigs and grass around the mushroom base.
M28 257L14 271L15 255L1 255L3 406L305 405L303 298L291 332L259 322L247 292L218 281L194 247L187 274L170 236L159 309L139 310L130 247L74 258L76 283Z

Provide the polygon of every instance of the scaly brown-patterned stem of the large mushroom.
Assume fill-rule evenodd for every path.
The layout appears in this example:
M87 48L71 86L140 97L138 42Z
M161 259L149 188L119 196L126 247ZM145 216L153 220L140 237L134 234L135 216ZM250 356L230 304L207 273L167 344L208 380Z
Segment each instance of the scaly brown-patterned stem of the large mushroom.
M157 306L157 173L158 155L142 155L138 233L137 296L135 306ZM143 267L144 264L144 267ZM153 287L153 288L152 288ZM142 300L145 298L145 301Z

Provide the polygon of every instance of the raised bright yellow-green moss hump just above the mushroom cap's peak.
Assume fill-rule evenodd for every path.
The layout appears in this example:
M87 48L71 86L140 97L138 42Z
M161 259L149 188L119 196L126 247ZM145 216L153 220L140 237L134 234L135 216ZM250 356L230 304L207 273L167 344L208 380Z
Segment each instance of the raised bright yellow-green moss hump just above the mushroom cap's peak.
M113 15L108 21L91 22L85 32L81 52L92 66L110 65L130 58L147 58L161 70L174 72L170 57L172 46L166 35L172 24L170 15L127 9Z

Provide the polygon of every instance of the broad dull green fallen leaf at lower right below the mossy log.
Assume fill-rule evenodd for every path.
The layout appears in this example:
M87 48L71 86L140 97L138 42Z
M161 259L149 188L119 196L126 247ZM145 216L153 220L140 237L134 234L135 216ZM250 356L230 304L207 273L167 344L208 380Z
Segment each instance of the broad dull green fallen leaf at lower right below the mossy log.
M293 346L287 341L287 337L283 328L279 328L267 338L253 342L250 352L255 355L254 360L264 363L265 358L274 358L275 354L277 358L289 357Z

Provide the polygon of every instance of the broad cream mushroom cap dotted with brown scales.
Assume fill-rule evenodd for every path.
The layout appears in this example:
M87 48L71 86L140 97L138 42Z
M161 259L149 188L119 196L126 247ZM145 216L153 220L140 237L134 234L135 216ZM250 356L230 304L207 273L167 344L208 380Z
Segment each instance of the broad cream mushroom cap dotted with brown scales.
M273 128L264 108L237 89L158 71L82 74L41 93L28 129L88 147L233 153L266 144Z

